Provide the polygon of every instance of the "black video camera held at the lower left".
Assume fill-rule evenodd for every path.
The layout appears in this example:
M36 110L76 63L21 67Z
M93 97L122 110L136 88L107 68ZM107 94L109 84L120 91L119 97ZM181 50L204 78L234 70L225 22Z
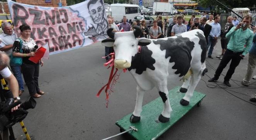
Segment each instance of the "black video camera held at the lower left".
M20 104L18 110L10 110ZM5 102L0 102L0 132L9 128L17 122L21 122L27 116L27 109L35 108L36 100L30 98L28 101L21 103L19 100L14 102L14 98L7 98Z

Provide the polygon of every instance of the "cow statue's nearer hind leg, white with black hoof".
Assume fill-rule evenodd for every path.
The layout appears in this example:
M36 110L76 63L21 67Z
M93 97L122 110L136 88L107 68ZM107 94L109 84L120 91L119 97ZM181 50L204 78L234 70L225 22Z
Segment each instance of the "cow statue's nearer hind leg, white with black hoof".
M200 70L193 70L193 74L191 75L191 81L190 86L188 88L188 91L186 92L185 96L180 100L181 105L188 105L190 98L193 96L193 92L195 90L195 87L197 86L197 83L201 79L201 71Z

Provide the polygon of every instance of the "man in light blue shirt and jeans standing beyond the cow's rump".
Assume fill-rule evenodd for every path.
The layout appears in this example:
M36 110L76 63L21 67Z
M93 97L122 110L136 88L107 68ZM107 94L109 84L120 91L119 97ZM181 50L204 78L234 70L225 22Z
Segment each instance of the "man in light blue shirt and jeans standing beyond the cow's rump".
M212 26L212 29L211 29L210 35L208 37L208 43L209 43L208 48L210 47L209 52L208 52L208 58L213 58L212 51L214 49L214 46L217 43L218 37L220 36L221 27L220 27L219 21L220 21L220 17L215 16L214 22L210 24Z

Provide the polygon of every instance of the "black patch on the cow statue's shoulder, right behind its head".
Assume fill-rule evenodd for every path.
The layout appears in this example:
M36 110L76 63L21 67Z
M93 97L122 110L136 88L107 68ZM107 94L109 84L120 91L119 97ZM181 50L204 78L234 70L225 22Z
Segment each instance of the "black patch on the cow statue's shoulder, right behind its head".
M156 60L151 57L152 54L153 52L147 46L142 46L141 52L132 57L131 67L127 69L129 71L136 69L137 74L142 74L143 71L146 71L146 68L155 70L153 64L156 63Z

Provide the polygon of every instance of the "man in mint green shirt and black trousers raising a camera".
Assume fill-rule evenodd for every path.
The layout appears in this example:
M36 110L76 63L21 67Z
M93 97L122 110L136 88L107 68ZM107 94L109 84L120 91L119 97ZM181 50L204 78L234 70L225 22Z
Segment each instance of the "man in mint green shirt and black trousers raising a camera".
M248 53L251 44L253 43L253 31L249 30L249 25L252 22L252 17L246 15L242 18L242 22L236 27L232 27L226 34L226 38L230 39L227 44L227 50L224 53L219 67L217 68L213 78L210 78L208 82L214 82L219 79L222 70L227 66L231 60L229 70L224 77L224 84L231 87L229 79L235 72L236 67L239 65L240 60ZM246 47L244 47L246 45Z

